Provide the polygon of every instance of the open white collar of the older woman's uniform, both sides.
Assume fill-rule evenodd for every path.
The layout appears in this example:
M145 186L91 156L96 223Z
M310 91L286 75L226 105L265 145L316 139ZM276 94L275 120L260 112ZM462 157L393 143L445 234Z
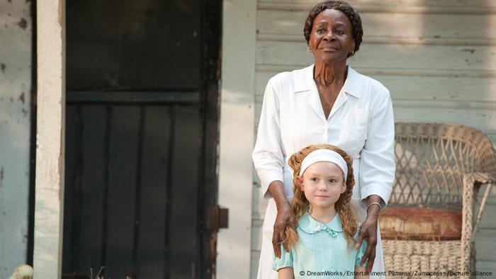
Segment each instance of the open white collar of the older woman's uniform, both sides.
M312 64L305 69L303 69L301 74L298 76L298 81L295 82L294 92L310 91L311 89L316 89L315 81L313 80L313 68L315 64ZM360 74L348 66L348 75L344 81L343 89L345 93L356 98L361 98L361 81Z

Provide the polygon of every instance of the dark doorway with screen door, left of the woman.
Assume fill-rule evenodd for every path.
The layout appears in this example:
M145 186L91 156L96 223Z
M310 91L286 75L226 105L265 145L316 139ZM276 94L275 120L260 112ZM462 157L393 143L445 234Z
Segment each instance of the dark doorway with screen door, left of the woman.
M67 1L67 278L215 272L220 11Z

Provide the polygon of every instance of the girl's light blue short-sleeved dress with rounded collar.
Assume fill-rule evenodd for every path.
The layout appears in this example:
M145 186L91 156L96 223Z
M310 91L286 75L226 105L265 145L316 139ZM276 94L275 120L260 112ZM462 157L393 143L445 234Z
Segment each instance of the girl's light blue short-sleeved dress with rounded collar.
M324 224L307 212L298 221L297 231L298 244L289 252L281 244L281 258L273 256L274 271L292 267L295 278L354 278L353 272L355 266L360 266L366 241L359 249L349 246L344 238L339 214ZM357 230L354 238L357 239L358 235Z

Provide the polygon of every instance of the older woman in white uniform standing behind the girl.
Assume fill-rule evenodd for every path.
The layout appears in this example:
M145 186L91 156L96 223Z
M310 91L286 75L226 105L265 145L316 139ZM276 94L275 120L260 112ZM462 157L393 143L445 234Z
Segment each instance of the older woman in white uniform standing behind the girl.
M368 271L384 271L377 220L388 203L395 174L390 93L346 65L363 35L360 16L349 4L317 4L305 22L304 35L315 64L269 80L253 152L264 198L269 198L258 278L277 278L272 255L281 254L278 243L286 226L296 226L287 159L310 144L334 144L353 156L352 203L362 221L359 242L368 244Z

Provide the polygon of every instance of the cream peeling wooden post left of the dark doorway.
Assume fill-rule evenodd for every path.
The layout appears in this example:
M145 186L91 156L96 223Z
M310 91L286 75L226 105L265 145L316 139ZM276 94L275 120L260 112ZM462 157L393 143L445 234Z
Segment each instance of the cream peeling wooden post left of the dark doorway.
M65 1L38 0L35 278L61 278L64 221Z

